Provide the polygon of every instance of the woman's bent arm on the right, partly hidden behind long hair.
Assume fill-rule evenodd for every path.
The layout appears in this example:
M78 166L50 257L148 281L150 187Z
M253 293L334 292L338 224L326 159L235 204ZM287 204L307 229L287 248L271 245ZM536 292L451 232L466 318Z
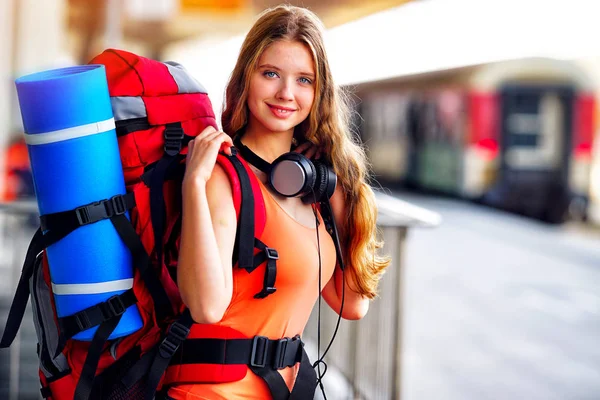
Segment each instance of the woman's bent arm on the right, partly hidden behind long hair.
M333 218L335 219L335 224L340 236L340 244L343 246L344 243L348 243L346 229L347 207L340 185L338 185L333 196L331 196L331 208L333 210ZM347 259L344 259L344 261L346 263L348 262ZM352 274L349 272L350 268L352 268L352 266L346 264L346 270L344 272L344 277L346 279L346 290L342 318L356 320L364 317L369 310L369 299L351 289L352 287L356 287L356 285L352 278ZM338 314L342 304L342 278L342 270L336 266L333 277L329 280L321 292L327 304L329 304L329 306Z

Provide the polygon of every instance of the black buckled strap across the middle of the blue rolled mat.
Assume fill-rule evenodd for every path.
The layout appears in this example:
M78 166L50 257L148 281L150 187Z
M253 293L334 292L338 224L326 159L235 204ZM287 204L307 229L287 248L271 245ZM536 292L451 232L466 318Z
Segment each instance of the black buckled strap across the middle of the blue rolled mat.
M114 215L125 214L135 206L133 193L120 194L110 199L96 201L74 210L42 215L40 224L43 231L73 232L80 226L109 219Z

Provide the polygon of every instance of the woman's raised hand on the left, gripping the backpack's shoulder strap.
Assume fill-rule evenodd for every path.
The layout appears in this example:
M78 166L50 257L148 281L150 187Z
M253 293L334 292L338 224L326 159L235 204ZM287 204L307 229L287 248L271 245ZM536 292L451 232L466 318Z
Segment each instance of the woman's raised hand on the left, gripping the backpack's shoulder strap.
M229 135L212 126L205 128L188 144L183 185L205 185L212 175L217 155L220 151L231 155L231 146L233 146L233 141Z

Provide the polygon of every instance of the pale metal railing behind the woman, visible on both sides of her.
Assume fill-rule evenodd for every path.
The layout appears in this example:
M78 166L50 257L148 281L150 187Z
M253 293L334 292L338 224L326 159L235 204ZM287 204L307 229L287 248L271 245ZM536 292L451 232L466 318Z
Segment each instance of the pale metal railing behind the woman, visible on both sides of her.
M392 258L380 283L380 296L371 303L360 321L342 320L325 361L328 400L399 399L402 387L402 257L407 232L413 227L435 227L436 213L376 192L378 226L383 234L383 252ZM23 258L37 223L35 201L0 203L0 331L8 315ZM317 313L305 329L307 350L316 360ZM333 333L337 314L323 302L321 308L321 348L325 350ZM38 399L37 338L31 308L10 350L0 351L0 398ZM336 379L337 378L337 379ZM317 397L319 393L317 392Z

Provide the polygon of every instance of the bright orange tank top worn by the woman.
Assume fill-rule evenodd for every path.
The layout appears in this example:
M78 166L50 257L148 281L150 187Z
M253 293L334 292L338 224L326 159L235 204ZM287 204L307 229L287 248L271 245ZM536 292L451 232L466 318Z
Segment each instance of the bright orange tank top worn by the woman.
M233 295L221 326L231 327L248 337L269 339L301 335L319 296L319 252L315 228L293 219L260 183L265 199L266 224L261 241L279 253L277 292L264 298L254 295L263 287L265 265L252 273L234 267ZM335 247L319 215L322 286L331 279L336 264ZM288 388L294 384L299 364L279 370ZM270 399L265 382L248 370L236 382L177 385L169 389L173 399Z

